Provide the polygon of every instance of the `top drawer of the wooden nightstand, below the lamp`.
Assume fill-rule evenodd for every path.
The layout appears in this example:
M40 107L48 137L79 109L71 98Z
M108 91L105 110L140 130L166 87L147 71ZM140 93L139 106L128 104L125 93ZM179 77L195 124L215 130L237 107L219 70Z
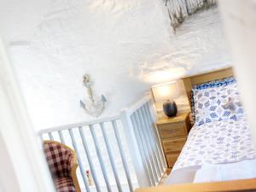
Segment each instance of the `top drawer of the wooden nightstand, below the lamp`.
M162 139L187 136L184 122L175 124L162 124L158 125L158 127L160 131L160 137Z

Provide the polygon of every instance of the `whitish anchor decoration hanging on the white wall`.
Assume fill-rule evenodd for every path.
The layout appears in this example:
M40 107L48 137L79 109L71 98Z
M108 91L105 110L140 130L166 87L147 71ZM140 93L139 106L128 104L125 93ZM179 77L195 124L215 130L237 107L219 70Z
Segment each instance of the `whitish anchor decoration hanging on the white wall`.
M99 117L105 109L105 103L107 102L107 99L102 95L101 99L96 101L96 98L91 89L92 82L90 81L90 76L88 74L83 75L83 85L87 89L89 101L83 102L80 100L80 107L83 108L85 113L89 114L90 116Z

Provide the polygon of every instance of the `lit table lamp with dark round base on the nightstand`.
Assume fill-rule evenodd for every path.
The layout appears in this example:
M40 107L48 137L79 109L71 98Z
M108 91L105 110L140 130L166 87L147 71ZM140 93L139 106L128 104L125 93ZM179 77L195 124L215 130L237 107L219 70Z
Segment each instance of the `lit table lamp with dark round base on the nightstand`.
M166 116L175 117L177 114L177 105L174 99L180 96L177 81L165 84L156 84L151 87L154 102L163 102L163 110Z

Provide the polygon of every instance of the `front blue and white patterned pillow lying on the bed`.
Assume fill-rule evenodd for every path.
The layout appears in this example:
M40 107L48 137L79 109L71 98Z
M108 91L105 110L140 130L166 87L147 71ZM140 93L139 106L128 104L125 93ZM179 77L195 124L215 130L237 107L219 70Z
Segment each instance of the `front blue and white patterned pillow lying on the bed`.
M196 125L225 119L236 120L244 116L236 83L193 90L193 93Z

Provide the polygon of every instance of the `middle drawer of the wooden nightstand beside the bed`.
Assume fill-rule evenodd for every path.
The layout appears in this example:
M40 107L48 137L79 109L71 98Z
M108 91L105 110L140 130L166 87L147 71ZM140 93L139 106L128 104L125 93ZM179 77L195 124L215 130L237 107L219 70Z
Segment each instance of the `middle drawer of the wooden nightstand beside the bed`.
M166 154L177 153L183 149L186 138L168 139L162 141L162 143Z

